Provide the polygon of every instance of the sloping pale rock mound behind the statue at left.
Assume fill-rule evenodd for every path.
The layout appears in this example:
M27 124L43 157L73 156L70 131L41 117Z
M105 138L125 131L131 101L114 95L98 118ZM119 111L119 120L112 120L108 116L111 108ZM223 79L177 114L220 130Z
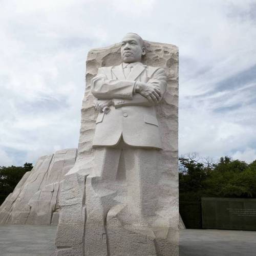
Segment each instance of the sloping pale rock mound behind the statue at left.
M74 166L76 148L42 156L0 207L0 224L57 225L63 176Z

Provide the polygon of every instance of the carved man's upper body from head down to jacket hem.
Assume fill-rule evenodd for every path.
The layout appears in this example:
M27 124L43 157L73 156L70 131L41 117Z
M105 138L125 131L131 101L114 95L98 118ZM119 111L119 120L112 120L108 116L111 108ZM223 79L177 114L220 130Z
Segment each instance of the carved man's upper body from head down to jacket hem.
M99 111L94 146L116 146L123 139L130 146L161 148L154 105L165 92L166 74L143 65L145 53L142 38L129 33L122 39L121 65L99 68L93 78Z

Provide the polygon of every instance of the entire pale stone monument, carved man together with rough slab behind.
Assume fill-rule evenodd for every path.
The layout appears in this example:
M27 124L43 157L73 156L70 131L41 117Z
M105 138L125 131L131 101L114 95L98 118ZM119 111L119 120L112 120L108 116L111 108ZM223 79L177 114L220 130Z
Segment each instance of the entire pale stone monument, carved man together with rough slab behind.
M129 33L89 51L56 256L179 255L178 78L174 45Z

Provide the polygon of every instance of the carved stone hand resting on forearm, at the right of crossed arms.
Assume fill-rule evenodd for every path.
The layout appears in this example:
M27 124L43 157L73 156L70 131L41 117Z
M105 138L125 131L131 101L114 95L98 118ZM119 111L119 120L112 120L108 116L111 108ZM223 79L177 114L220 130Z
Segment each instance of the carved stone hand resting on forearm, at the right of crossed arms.
M135 92L146 97L153 104L157 104L161 99L160 88L144 82L137 82Z

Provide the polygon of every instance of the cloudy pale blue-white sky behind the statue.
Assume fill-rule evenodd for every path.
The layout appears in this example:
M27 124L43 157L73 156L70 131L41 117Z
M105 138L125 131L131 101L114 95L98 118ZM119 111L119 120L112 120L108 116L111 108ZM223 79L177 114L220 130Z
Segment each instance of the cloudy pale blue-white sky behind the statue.
M179 47L180 155L256 159L255 0L1 0L0 165L77 147L87 52L126 32Z

